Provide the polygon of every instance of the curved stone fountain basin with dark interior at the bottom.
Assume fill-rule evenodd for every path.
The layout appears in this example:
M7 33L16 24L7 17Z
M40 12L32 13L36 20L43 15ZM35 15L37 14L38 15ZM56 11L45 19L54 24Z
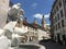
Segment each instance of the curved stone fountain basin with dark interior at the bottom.
M29 45L20 45L19 49L45 49L45 47L41 46L41 45L35 45L35 44L31 45L31 44L29 44Z

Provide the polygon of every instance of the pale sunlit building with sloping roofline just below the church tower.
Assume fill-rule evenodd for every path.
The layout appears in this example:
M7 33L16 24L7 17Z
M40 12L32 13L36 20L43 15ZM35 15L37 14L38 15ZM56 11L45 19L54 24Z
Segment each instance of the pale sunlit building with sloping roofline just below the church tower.
M37 29L37 35L38 35L38 40L51 39L50 34L42 28Z

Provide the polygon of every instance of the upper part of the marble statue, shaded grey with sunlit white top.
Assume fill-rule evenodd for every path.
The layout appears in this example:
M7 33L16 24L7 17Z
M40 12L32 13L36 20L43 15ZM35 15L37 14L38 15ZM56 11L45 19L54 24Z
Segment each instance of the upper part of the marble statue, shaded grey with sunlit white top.
M8 20L16 21L19 16L23 16L24 11L21 9L21 3L13 4L11 9L9 9Z

